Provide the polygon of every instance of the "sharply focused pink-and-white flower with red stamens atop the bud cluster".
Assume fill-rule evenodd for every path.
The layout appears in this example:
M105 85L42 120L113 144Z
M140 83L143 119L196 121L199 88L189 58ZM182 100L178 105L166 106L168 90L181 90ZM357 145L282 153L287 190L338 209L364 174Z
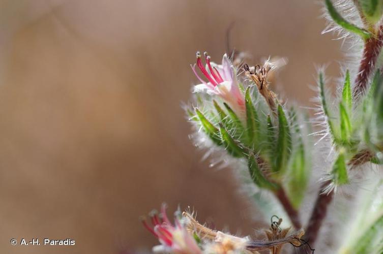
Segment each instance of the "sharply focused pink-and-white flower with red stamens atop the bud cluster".
M208 82L201 79L196 70L195 64L191 68L201 84L194 86L194 92L207 92L210 95L217 95L237 113L245 110L245 98L238 86L235 69L226 54L223 55L222 65L216 65L210 62L210 56L207 52L203 53L207 67L204 68L201 60L201 54L197 52L197 66Z

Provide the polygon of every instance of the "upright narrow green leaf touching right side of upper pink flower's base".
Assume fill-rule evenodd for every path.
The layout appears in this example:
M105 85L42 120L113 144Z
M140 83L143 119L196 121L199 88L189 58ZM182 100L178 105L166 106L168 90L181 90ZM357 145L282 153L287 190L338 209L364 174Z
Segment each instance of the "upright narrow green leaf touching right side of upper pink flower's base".
M250 86L247 87L245 93L245 105L246 105L246 123L249 142L254 144L258 140L259 135L259 118L254 108L253 102L250 97Z

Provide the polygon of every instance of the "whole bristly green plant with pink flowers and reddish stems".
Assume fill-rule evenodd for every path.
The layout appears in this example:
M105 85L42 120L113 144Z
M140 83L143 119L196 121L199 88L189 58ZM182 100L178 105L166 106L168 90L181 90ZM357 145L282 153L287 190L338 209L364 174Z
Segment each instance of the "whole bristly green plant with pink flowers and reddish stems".
M204 52L204 66L197 52L191 67L200 84L187 107L194 141L235 168L271 226L254 240L209 229L190 212L172 226L163 209L163 223L156 216L154 229L144 223L161 250L281 253L292 245L302 253L312 246L319 253L383 253L383 1L325 0L325 7L325 31L338 31L357 54L336 98L319 70L314 117L271 90L284 59L250 67L224 54L217 65Z

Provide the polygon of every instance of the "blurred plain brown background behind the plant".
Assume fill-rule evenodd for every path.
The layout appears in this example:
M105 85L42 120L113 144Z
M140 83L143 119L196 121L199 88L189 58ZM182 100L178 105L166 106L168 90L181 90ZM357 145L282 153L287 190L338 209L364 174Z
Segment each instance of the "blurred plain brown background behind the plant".
M196 50L230 44L249 64L284 56L275 87L310 106L315 65L335 76L341 42L302 0L1 0L0 250L134 253L157 241L139 215L178 204L250 234L256 210L230 169L209 168L181 103ZM11 238L75 239L12 246ZM124 252L125 251L125 252Z

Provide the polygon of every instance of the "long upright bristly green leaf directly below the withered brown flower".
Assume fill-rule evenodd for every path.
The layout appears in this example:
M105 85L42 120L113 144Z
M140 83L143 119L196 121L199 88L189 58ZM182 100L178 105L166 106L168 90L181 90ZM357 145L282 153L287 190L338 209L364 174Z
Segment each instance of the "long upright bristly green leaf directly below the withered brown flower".
M281 105L278 105L278 138L275 151L275 172L284 172L291 153L291 133L286 115Z

